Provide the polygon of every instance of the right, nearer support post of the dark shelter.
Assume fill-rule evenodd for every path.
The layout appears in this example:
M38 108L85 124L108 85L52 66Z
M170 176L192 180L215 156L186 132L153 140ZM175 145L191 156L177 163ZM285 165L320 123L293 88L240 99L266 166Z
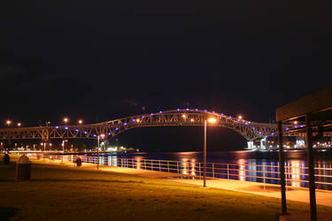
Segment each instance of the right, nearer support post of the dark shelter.
M315 179L314 179L314 161L313 161L313 134L312 134L312 116L310 113L305 114L305 127L306 127L306 145L307 145L307 160L309 168L309 192L310 192L310 220L317 220L316 211L316 192L315 192Z

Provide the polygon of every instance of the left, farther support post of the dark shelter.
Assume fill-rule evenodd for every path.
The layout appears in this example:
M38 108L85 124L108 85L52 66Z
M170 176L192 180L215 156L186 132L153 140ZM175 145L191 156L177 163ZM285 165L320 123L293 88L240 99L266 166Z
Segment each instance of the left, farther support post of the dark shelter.
M283 141L282 141L282 121L278 121L278 142L279 142L280 186L282 191L282 214L287 214L285 160L283 157Z

